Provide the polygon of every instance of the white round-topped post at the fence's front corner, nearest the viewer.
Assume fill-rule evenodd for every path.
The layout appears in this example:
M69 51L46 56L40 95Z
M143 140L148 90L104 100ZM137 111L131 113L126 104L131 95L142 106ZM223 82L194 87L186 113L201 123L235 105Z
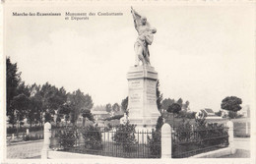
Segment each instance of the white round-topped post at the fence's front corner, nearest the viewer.
M171 127L168 124L163 124L161 127L161 157L171 158Z

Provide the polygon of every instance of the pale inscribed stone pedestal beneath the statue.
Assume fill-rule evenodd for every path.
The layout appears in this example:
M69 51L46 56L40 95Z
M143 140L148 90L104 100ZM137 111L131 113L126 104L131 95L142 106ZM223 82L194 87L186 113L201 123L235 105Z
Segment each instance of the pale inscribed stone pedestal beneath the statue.
M157 106L158 73L154 67L131 67L127 80L129 85L129 121L137 129L155 129L160 112Z

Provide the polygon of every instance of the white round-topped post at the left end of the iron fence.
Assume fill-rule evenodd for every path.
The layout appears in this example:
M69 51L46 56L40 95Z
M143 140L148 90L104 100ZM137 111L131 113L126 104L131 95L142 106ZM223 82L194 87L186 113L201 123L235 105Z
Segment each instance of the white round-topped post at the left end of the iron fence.
M48 157L48 150L50 149L50 137L51 137L51 125L50 123L45 123L43 128L43 146L41 150L41 159L47 159Z

